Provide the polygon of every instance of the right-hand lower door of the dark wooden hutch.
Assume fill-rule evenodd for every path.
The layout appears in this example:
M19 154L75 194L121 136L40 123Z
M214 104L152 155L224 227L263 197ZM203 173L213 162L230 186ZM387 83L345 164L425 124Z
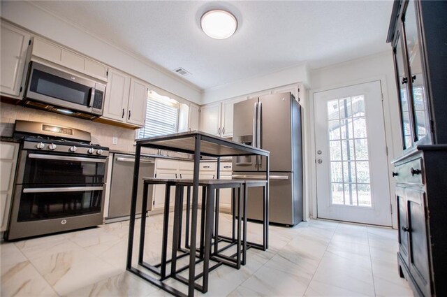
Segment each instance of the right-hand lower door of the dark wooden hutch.
M410 228L410 271L425 296L430 295L430 268L428 263L425 194L406 189Z

